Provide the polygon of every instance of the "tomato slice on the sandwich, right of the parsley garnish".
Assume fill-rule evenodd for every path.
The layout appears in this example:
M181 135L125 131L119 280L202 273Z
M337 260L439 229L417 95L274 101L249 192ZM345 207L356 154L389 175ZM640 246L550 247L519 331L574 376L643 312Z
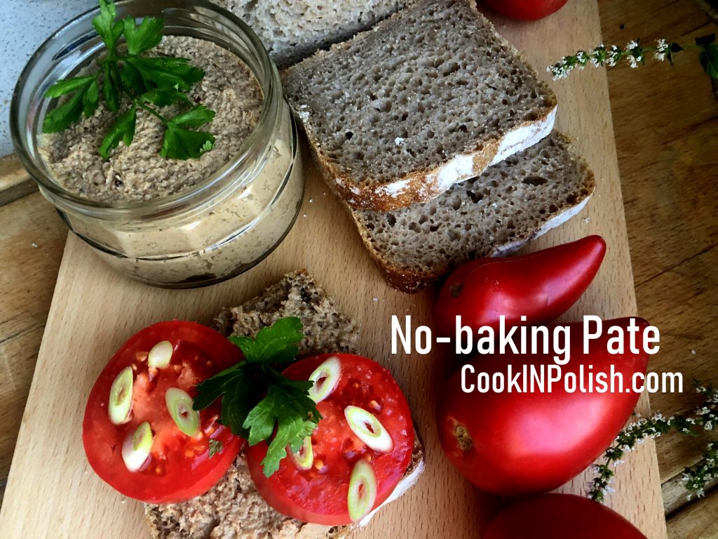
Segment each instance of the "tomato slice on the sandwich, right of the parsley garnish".
M247 461L258 492L277 511L315 524L336 526L352 522L348 504L350 477L359 461L376 477L376 509L388 498L409 467L414 448L414 425L404 394L388 370L371 359L351 354L323 354L288 367L290 379L309 379L327 359L337 358L340 375L335 389L317 404L322 415L312 433L313 459L300 469L299 459L286 458L271 477L261 461L266 442L247 449ZM326 383L326 382L325 382ZM350 428L345 410L359 407L371 413L391 436L388 452L369 448Z

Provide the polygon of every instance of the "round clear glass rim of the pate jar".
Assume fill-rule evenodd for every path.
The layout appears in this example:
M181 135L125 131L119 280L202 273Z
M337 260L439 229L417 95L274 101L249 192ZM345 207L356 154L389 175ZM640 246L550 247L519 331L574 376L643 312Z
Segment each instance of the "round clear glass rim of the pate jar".
M118 11L121 11L122 8L127 6L132 6L133 4L139 4L141 6L145 5L146 2L142 0L118 0L115 4ZM91 36L87 39L98 37L97 32L95 32L94 29L91 29L91 20L99 13L99 7L95 7L63 24L62 27L57 29L55 32L52 32L50 37L48 37L47 40L45 40L45 42L38 47L20 74L14 88L10 104L11 138L16 155L20 162L22 162L22 165L24 165L24 167L28 170L30 176L39 185L39 188L44 191L44 194L49 196L52 202L56 205L67 206L67 208L70 208L73 211L92 214L95 217L103 216L103 218L128 218L133 212L138 211L141 213L148 213L150 215L166 215L167 212L173 211L177 208L186 207L188 203L192 203L194 206L195 200L197 198L202 198L203 196L205 199L202 200L202 202L205 202L213 198L214 195L220 195L223 192L222 189L219 189L222 185L225 183L232 183L232 180L236 180L237 170L241 169L243 163L249 160L248 157L251 154L252 149L257 144L257 139L260 138L261 129L263 127L266 129L268 124L274 126L274 124L279 121L280 103L283 100L279 71L274 64L274 61L269 57L269 53L266 52L264 44L245 22L236 17L236 15L230 13L230 11L206 0L166 0L164 2L160 2L160 4L164 4L158 9L161 14L168 14L173 11L178 13L183 9L200 9L204 11L205 14L209 11L213 15L224 19L224 22L230 24L230 27L236 29L241 37L248 40L251 44L251 52L256 54L256 60L258 60L258 63L264 70L265 75L259 76L252 66L245 62L257 79L264 94L262 110L256 125L253 127L248 137L246 137L246 139L242 142L235 157L231 158L228 162L225 162L219 170L213 172L205 180L202 180L189 188L180 190L178 193L167 195L166 197L155 198L149 201L126 203L93 201L91 199L75 195L75 193L62 188L60 184L52 181L49 175L37 166L35 159L32 155L30 155L30 152L26 147L27 141L24 139L22 132L27 129L27 118L20 110L20 101L22 93L25 90L24 86L28 82L29 75L31 74L34 66L43 56L50 52L52 45L54 45L58 39L62 38L65 32L70 31L70 29L74 29L80 24L85 24L88 26L88 32L85 32L85 34L89 33ZM235 51L230 52L236 54ZM59 56L59 53L55 55L55 57L57 56ZM53 57L53 60L55 57ZM244 61L243 58L240 57L240 59ZM52 81L52 83L54 82L55 80ZM21 121L21 119L25 119L26 121ZM29 136L34 138L34 134L30 134ZM266 155L266 153L269 152L270 147L271 144L269 141L264 144L264 148L262 148L263 155ZM264 160L264 158L261 160ZM251 179L252 178L242 178L242 181L243 183L247 183L248 181L251 181Z

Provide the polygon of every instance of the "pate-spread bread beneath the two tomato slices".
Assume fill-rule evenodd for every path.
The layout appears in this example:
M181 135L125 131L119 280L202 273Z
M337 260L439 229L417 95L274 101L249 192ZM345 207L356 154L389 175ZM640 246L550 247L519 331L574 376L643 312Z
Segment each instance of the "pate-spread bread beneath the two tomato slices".
M227 336L251 336L282 316L302 319L300 356L357 351L356 323L339 313L324 290L301 271L284 276L243 305L223 310L215 327ZM385 504L406 492L423 469L424 448L416 436L409 469ZM338 539L353 529L307 524L276 512L256 491L243 453L209 492L180 504L146 504L144 510L154 539Z

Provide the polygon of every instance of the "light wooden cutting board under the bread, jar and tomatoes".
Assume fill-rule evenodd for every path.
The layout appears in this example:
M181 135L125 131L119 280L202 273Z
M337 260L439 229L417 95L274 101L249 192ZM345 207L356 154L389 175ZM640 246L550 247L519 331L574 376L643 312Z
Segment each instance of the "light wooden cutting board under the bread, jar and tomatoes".
M546 76L544 66L601 42L595 0L571 0L536 23L494 18ZM554 83L558 126L577 139L595 171L597 190L568 224L533 241L536 250L587 234L608 244L605 262L584 297L564 316L614 318L635 314L628 239L623 216L605 73L587 70ZM434 290L405 295L389 288L364 251L340 204L307 163L307 193L297 224L279 249L244 275L200 290L172 291L139 285L100 264L70 235L62 259L45 336L0 512L4 538L144 538L141 505L101 482L85 460L81 420L95 377L127 337L155 321L185 318L209 323L223 306L238 305L306 268L362 328L363 353L389 367L406 392L426 445L426 473L419 484L357 533L370 538L477 538L497 502L472 488L444 459L434 424L437 386L446 361L439 349L427 356L393 355L391 315L411 314L432 323ZM648 411L644 398L639 410ZM581 493L589 474L561 490ZM608 504L650 539L666 537L653 443L628 456L617 471ZM580 530L577 530L579 537Z

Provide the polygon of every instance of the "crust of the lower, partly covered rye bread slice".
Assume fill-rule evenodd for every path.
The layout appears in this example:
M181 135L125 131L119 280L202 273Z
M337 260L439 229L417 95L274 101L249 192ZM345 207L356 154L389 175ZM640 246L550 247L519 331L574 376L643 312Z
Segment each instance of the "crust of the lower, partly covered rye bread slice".
M592 170L589 169L588 165L585 163L582 157L579 157L575 152L572 151L572 140L569 137L558 132L554 133L553 136L557 139L560 139L561 142L563 142L564 144L567 144L569 146L569 152L572 158L582 163L585 171L583 181L589 194L587 196L584 196L583 198L577 198L574 204L570 204L566 201L561 201L561 203L557 203L556 211L546 214L544 221L537 224L536 229L534 229L531 234L528 234L526 237L515 241L510 241L503 244L495 244L491 252L477 253L477 258L504 257L508 254L516 252L518 251L518 249L521 249L521 247L526 245L528 241L531 241L532 239L546 234L546 232L548 232L549 230L556 228L556 226L559 226L565 221L567 221L569 218L572 218L588 203L589 198L591 198L596 187L595 176ZM381 270L384 280L386 280L388 285L390 285L391 287L396 288L397 290L401 290L402 292L413 294L433 285L435 282L441 279L441 277L447 275L447 273L454 270L454 267L449 266L447 268L447 271L424 271L416 267L404 267L400 264L392 262L391 260L384 257L383 254L379 252L376 247L374 247L371 240L370 232L365 226L361 224L358 214L353 211L353 208L350 208L349 206L346 206L346 208L352 216L359 235L364 242L364 247L368 250L376 266L379 268L379 270Z

